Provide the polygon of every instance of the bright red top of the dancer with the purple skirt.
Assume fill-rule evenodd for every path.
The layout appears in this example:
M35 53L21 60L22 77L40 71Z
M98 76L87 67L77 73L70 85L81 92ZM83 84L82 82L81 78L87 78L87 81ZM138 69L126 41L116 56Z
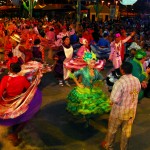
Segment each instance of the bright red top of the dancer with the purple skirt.
M30 82L24 76L4 76L0 83L0 98L6 90L8 97L14 97L21 94L24 89L28 89Z

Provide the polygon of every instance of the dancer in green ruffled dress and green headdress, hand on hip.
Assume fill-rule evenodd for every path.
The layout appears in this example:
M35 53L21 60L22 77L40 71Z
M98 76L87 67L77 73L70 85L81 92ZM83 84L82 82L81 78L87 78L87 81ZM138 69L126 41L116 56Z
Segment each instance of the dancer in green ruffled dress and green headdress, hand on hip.
M109 112L111 106L109 98L100 88L103 77L94 69L95 54L86 52L84 60L88 65L70 75L77 87L67 97L67 110L73 115L90 118ZM82 81L79 82L78 78L82 78Z

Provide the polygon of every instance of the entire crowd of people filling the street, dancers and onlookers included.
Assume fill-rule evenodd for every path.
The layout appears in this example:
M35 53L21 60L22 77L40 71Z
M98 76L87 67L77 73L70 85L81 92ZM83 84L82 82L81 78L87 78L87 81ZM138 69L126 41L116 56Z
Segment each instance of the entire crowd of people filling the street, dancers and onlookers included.
M71 87L71 79L76 83L66 96L68 112L86 120L110 112L102 146L113 149L122 125L121 149L127 149L137 103L150 97L149 34L149 25L137 20L132 25L130 20L0 19L0 72L8 70L0 82L0 125L11 127L7 138L19 145L19 132L40 109L38 84L49 59L60 87ZM103 77L107 62L113 68ZM112 86L110 98L100 87L105 81Z

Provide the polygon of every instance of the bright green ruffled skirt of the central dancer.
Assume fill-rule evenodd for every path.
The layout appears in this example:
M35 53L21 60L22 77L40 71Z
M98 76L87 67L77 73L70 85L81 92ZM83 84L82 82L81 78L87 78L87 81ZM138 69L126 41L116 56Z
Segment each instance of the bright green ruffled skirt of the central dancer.
M75 87L67 97L67 110L73 115L93 116L108 113L111 109L109 98L99 87Z

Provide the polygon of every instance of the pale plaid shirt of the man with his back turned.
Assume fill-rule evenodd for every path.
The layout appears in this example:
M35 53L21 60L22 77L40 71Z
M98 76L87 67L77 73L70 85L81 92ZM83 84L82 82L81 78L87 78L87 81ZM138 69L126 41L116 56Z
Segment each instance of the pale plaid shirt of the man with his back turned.
M113 102L111 115L121 120L135 117L141 84L138 78L123 75L113 86L110 99Z

